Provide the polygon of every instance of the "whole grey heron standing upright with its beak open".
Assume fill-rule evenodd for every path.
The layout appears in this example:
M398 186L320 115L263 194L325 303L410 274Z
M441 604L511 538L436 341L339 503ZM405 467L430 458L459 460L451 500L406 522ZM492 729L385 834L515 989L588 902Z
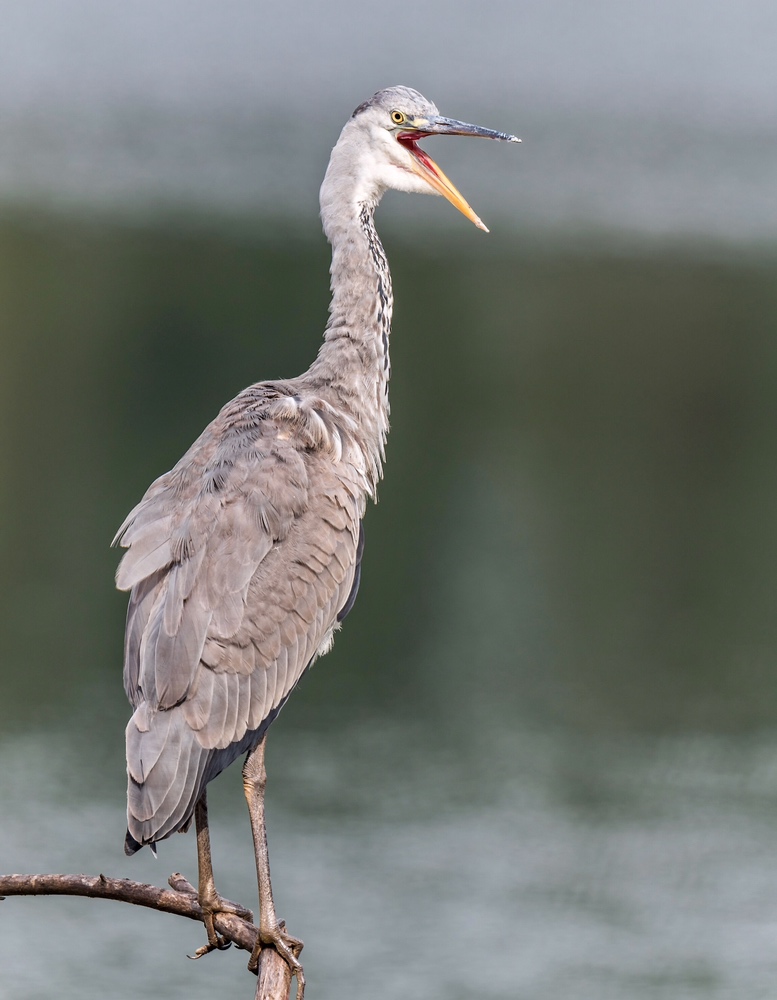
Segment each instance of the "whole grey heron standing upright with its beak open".
M235 909L215 887L206 788L245 756L260 914L248 967L275 947L298 1000L302 942L278 920L270 883L267 730L331 648L359 589L362 519L389 428L393 294L375 209L388 188L438 194L488 231L420 148L436 135L520 141L444 118L408 87L360 104L321 186L332 299L316 359L297 378L257 382L227 403L114 539L127 549L116 584L130 592L125 850L153 850L193 818L207 934L197 955L223 946L214 915Z

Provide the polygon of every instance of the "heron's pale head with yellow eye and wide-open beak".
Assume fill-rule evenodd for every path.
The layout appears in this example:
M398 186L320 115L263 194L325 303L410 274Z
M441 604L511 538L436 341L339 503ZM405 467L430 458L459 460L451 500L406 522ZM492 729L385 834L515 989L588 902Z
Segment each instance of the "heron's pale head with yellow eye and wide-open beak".
M347 174L357 201L376 204L388 188L441 194L478 228L488 232L461 193L418 145L419 140L432 135L521 141L505 132L443 118L431 101L410 87L380 90L359 105L342 131L322 188L322 208L327 183Z

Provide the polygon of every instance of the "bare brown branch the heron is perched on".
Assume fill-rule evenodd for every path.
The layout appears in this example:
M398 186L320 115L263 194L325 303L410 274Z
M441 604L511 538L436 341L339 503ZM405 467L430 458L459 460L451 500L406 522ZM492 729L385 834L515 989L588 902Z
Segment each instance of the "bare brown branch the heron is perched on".
M88 896L91 899L115 899L120 903L148 906L162 913L176 913L192 920L202 920L197 890L183 875L169 878L170 889L160 889L144 882L105 875L0 875L0 899L6 896ZM249 919L234 913L214 914L216 931L226 940L251 951L259 934L251 922L253 914L242 909ZM289 1000L291 970L272 947L262 949L257 970L255 1000Z

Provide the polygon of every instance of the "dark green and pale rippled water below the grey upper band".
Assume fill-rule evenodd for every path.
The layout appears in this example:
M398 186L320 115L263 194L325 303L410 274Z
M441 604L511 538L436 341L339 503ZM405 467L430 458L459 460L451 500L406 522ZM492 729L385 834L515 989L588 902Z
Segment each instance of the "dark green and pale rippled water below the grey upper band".
M773 995L777 262L469 230L386 249L362 589L268 750L311 996ZM0 223L3 870L192 872L190 837L121 853L108 544L223 402L307 366L327 267L280 221ZM211 811L250 903L238 786ZM9 997L253 995L236 954L182 961L198 929L172 918L0 920Z

